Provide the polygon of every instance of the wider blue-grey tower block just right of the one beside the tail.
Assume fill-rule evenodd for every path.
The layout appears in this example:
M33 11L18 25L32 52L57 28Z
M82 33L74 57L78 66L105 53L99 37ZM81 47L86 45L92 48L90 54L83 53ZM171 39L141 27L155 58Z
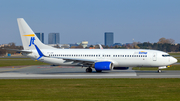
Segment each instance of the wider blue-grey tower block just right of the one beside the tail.
M49 33L48 44L60 44L59 33Z

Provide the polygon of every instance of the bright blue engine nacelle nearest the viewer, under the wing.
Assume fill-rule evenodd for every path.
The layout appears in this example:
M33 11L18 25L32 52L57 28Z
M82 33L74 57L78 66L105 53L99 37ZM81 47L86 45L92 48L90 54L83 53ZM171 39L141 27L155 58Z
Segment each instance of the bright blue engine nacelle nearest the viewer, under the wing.
M109 61L103 61L103 62L96 62L94 64L94 68L96 70L111 70L113 68L113 63Z

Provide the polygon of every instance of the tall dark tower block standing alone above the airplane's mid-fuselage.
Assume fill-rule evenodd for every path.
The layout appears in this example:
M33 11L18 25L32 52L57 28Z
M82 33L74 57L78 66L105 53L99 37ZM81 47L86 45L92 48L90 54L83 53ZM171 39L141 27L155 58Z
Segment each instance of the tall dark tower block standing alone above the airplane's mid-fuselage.
M113 32L105 32L104 33L104 45L112 46L114 43L114 33Z

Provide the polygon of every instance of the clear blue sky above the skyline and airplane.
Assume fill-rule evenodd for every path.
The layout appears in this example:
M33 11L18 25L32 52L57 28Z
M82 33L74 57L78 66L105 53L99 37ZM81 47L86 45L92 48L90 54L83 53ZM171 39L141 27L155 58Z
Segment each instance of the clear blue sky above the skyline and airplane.
M158 42L162 37L180 43L180 0L0 0L0 44L22 45L17 18L34 32L60 33L60 43L88 41L104 44Z

